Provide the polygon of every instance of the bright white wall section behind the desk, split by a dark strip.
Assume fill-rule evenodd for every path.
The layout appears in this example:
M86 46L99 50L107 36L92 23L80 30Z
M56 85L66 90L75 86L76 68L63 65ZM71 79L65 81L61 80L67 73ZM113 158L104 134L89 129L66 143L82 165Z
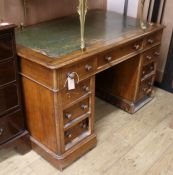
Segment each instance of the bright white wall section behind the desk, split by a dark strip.
M108 0L107 8L111 11L116 11L118 13L123 13L125 0ZM128 5L128 16L137 17L138 12L138 2L139 0L129 0Z

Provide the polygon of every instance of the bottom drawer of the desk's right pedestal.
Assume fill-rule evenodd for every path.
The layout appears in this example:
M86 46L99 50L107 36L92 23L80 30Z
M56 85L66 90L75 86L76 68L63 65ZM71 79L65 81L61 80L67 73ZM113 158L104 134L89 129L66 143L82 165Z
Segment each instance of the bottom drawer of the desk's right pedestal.
M143 82L141 82L139 87L138 99L143 98L146 95L150 95L153 90L154 77L150 77Z

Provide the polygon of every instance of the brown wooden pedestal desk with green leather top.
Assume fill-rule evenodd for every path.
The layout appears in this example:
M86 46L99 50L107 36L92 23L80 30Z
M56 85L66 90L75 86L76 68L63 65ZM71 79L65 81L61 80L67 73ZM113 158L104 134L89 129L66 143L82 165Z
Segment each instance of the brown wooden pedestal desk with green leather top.
M84 52L77 16L16 32L33 149L60 170L92 149L95 89L130 113L149 102L162 31L156 24L143 31L136 19L98 10L87 15Z

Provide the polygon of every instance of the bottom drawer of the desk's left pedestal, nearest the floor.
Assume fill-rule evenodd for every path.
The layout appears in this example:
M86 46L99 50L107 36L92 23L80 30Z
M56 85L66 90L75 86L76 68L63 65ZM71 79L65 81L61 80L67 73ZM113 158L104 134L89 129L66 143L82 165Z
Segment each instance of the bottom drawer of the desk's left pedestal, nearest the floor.
M65 145L88 131L88 118L64 132Z

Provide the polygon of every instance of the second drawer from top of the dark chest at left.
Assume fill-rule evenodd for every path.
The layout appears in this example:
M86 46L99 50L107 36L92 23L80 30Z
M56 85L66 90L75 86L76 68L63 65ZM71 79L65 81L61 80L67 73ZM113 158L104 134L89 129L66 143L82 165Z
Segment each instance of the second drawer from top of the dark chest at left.
M0 63L0 86L12 82L15 77L15 63L13 60Z

